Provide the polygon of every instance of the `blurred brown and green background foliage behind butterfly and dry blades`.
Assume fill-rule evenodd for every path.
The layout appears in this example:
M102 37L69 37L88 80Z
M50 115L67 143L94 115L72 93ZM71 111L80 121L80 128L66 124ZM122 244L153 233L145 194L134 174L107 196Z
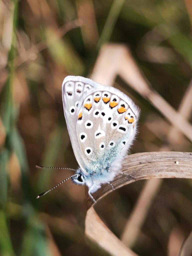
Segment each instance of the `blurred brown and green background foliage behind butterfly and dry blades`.
M0 255L108 255L84 238L83 187L67 182L36 200L71 174L36 164L78 166L63 115L62 80L89 77L102 45L123 43L152 87L178 109L191 79L191 22L190 0L0 0ZM168 143L169 124L120 78L115 86L142 111L132 153L159 151ZM183 136L169 146L192 151ZM96 205L118 237L143 184L125 186ZM191 185L164 180L136 253L167 255L168 241L176 246L188 236Z

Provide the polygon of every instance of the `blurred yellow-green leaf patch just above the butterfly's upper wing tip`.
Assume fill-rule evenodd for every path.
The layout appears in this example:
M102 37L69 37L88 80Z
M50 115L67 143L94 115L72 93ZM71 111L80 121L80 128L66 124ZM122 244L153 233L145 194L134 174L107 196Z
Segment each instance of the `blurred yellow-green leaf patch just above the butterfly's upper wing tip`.
M83 73L83 62L69 40L56 39L55 33L50 29L46 30L46 40L52 58L64 65L69 74L81 75Z

